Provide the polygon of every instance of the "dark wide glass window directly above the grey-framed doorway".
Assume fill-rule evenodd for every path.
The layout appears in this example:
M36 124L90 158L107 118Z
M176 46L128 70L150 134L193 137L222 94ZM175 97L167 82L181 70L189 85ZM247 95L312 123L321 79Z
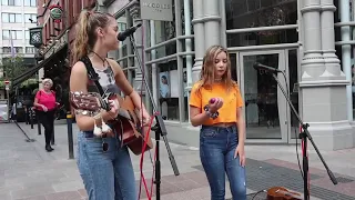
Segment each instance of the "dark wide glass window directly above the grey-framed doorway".
M296 0L225 0L226 29L286 26L297 23ZM229 47L293 43L296 29L227 34Z

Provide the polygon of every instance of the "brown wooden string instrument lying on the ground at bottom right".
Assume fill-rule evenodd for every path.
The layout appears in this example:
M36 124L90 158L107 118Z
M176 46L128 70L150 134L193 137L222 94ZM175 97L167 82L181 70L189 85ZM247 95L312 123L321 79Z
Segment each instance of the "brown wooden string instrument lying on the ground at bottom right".
M267 200L302 200L301 193L293 192L283 187L273 187L267 190Z

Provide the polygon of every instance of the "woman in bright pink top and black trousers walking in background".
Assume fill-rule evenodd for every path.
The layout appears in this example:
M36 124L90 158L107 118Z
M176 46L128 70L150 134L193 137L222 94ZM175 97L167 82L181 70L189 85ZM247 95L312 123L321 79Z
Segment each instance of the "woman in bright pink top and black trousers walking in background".
M43 89L36 93L33 106L37 109L40 122L44 127L45 150L53 151L54 149L50 142L53 137L54 112L58 102L55 101L55 92L51 90L53 81L51 79L44 79L42 84Z

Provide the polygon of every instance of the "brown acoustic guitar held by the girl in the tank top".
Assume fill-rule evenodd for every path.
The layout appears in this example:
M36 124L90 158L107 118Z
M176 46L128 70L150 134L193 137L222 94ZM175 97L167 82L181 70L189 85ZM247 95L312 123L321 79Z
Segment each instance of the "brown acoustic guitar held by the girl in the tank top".
M70 102L77 114L95 116L103 110L111 110L109 100L118 100L120 103L119 114L115 119L108 123L120 134L123 146L128 146L134 154L141 154L144 144L144 134L149 130L148 127L141 126L140 110L134 107L129 96L124 98L108 93L101 97L97 92L71 92ZM139 131L141 130L141 131ZM143 134L141 133L143 132ZM151 138L148 138L145 151L153 148Z

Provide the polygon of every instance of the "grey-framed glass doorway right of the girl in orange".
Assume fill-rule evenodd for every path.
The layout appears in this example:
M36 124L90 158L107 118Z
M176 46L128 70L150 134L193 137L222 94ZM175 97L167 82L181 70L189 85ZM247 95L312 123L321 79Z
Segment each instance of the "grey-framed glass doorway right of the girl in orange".
M253 64L260 62L285 72L285 77L277 74L278 81L298 111L297 58L297 49L231 52L232 73L245 102L247 140L294 142L298 123L282 90L270 72L255 70Z

